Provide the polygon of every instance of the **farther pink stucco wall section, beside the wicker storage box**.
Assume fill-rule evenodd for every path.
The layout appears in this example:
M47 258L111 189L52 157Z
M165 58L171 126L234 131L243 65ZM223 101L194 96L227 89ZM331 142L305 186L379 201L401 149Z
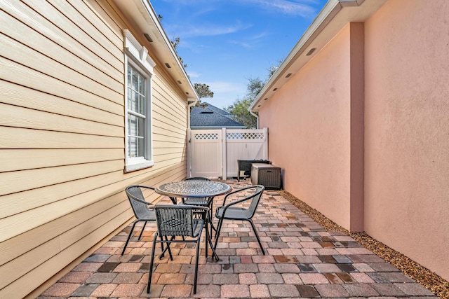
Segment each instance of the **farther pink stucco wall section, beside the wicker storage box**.
M283 186L345 228L350 225L349 27L259 111L269 160Z

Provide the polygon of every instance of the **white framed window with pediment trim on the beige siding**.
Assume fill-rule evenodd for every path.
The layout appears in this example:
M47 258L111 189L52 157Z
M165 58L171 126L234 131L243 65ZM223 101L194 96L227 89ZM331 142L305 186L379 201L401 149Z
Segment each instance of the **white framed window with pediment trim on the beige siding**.
M152 76L156 65L130 32L125 37L125 171L152 167Z

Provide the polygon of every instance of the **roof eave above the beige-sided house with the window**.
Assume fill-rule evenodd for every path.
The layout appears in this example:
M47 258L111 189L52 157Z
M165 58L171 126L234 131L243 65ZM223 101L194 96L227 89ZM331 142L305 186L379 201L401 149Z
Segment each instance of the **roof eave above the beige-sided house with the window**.
M112 0L133 27L139 29L143 40L148 41L145 46L148 52L161 62L161 68L165 69L180 90L184 92L188 101L199 99L187 72L177 57L166 32L159 22L154 8L148 0ZM152 41L145 36L147 34Z

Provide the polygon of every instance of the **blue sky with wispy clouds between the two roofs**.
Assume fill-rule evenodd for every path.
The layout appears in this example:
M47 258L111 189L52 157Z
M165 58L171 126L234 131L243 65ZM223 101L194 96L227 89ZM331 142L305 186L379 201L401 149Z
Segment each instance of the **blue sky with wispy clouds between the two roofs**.
M248 78L267 78L327 0L151 0L192 83L214 92L222 109L246 95Z

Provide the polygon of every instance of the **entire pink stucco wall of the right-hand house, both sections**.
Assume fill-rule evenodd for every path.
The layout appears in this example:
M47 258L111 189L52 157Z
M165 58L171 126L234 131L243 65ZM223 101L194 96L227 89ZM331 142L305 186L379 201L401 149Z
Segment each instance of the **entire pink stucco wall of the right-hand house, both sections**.
M449 1L388 1L264 104L284 188L449 279Z

